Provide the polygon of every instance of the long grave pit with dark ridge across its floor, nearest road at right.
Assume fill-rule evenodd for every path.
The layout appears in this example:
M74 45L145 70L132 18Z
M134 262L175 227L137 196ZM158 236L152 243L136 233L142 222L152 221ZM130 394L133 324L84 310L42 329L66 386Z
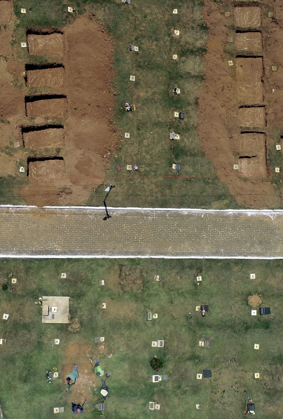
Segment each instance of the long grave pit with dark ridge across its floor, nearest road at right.
M238 164L241 175L267 175L266 136L264 133L241 133Z

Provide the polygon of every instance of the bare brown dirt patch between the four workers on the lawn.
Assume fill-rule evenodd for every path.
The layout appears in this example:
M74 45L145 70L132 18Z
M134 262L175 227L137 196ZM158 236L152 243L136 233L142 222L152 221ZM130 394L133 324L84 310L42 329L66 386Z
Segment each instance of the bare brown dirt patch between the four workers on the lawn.
M83 403L85 399L95 401L91 391L95 391L101 386L101 379L94 374L94 371L89 362L89 358L93 361L104 357L107 353L106 345L100 345L98 347L91 347L86 344L70 344L65 352L65 360L63 360L62 370L59 371L60 382L62 386L67 390L66 378L73 370L73 364L78 365L79 376L76 379L74 385L70 387L70 390L66 393L68 395L70 406L72 401L74 403ZM104 369L103 361L101 361L101 367ZM104 371L105 372L105 371ZM88 411L88 405L84 406L84 410Z

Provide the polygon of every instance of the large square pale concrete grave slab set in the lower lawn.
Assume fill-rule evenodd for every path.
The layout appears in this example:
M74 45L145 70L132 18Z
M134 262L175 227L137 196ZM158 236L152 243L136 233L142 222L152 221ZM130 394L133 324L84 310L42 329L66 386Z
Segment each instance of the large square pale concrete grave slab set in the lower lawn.
M42 297L42 323L69 323L70 297ZM51 313L52 307L57 307L56 313Z

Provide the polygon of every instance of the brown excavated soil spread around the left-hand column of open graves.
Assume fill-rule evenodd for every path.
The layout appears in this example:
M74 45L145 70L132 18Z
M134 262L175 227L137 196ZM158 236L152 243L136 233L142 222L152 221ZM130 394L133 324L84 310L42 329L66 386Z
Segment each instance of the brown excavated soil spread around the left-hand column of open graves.
M64 54L55 61L65 66L66 82L49 88L48 93L67 96L67 115L60 122L46 116L37 116L34 122L29 122L24 103L24 96L30 95L24 85L25 62L12 59L16 55L10 46L14 20L15 16L6 29L0 28L0 56L5 57L0 57L0 118L10 122L0 123L0 177L18 178L18 162L29 157L29 150L22 146L22 125L62 124L65 147L60 147L60 152L55 151L56 147L47 150L49 156L64 158L65 178L25 178L26 186L17 192L28 204L38 206L83 204L92 189L104 181L108 153L116 146L118 134L111 123L114 42L92 16L78 17L73 25L64 28ZM15 85L19 83L22 90ZM19 141L21 147L14 149L14 141Z

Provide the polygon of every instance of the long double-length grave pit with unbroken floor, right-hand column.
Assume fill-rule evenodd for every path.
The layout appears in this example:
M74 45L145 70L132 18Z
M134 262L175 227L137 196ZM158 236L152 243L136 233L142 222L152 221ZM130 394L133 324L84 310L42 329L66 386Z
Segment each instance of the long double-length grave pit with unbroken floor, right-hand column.
M262 57L236 57L236 85L239 101L246 105L263 102Z

